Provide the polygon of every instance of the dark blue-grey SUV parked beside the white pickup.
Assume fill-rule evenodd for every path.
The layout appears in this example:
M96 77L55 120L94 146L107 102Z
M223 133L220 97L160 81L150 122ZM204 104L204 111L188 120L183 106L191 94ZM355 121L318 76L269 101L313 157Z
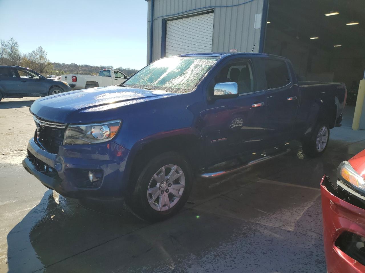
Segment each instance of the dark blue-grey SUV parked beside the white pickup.
M2 98L44 97L70 90L68 83L47 79L29 68L0 65L0 101Z

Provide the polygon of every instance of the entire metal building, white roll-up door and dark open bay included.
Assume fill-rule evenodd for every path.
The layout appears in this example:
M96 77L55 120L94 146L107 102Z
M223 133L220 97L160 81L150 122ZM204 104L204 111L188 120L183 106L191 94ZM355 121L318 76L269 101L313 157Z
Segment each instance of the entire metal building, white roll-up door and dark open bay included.
M250 52L255 44L254 52L290 59L301 80L345 82L348 103L356 101L365 68L364 0L146 1L147 63Z

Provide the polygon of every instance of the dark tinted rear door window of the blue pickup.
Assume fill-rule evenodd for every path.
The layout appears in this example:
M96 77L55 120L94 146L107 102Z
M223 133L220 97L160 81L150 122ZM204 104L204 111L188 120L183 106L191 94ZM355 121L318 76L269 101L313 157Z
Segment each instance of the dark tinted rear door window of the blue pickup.
M267 88L286 86L290 82L287 64L283 61L264 59Z

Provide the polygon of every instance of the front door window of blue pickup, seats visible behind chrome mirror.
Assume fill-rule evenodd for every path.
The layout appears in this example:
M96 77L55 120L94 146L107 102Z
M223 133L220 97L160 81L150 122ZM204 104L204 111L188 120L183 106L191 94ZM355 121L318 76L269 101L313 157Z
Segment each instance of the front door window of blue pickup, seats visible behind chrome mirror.
M228 64L215 77L215 83L236 82L239 94L255 91L255 82L251 62L243 60Z

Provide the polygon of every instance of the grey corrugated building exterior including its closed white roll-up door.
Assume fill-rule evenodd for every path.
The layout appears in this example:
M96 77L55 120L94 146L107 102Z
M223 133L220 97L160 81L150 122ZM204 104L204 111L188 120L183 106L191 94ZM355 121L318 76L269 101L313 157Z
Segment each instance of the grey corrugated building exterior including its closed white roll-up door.
M147 2L147 63L192 52L250 52L254 44L262 52L268 0Z

